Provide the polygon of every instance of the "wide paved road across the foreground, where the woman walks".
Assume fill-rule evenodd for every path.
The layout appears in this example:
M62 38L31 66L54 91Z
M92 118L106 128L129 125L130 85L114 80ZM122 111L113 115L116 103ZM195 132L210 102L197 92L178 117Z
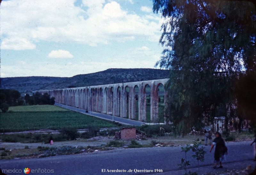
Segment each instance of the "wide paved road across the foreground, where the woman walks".
M227 161L223 163L221 171L232 169L245 169L248 164L255 167L253 162L253 147L251 141L227 143ZM206 155L203 163L200 163L200 173L218 172L213 170L213 152L209 153L210 146L206 147ZM192 152L188 152L187 158L191 161L191 170L197 171L197 162L192 158ZM132 148L116 149L112 151L101 151L94 153L83 153L79 155L62 155L37 159L0 160L2 170L16 170L28 167L30 170L38 171L36 174L44 174L44 171L54 171L53 174L161 174L180 175L184 170L180 170L177 165L184 157L180 147L152 147L152 148ZM134 170L152 170L150 172L134 172ZM155 169L163 170L162 173L155 173ZM126 172L107 172L109 170L125 170ZM133 172L128 172L132 170ZM105 172L102 172L105 171ZM8 173L21 174L21 173ZM31 173L32 174L32 173ZM51 174L51 173L47 173Z

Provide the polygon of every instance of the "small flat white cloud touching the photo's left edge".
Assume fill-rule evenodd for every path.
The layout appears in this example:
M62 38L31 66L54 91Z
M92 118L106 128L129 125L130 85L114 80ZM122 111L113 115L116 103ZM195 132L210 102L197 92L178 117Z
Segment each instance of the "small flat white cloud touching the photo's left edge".
M26 38L4 38L1 43L1 49L6 50L27 50L35 49L36 45L30 43Z

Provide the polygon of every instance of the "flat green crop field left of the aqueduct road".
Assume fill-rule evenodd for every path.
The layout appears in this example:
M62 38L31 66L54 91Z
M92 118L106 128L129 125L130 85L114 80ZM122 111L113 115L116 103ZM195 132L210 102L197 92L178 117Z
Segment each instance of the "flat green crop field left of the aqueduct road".
M1 132L44 128L58 130L65 127L83 129L88 125L116 127L112 122L52 105L16 106L10 107L7 113L0 113Z

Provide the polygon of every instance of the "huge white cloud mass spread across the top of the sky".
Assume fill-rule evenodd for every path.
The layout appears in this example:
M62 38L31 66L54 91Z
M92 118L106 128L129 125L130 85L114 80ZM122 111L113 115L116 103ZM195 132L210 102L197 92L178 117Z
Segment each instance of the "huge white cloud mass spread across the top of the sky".
M26 47L20 46L22 49L33 49L40 41L97 46L138 37L148 41L159 40L160 16L153 15L152 11L152 16L139 16L123 10L115 1L83 0L81 6L75 6L75 1L2 1L2 49L17 49L10 42L4 43L11 38L26 41ZM132 0L130 2L133 3ZM141 8L149 11L148 7Z

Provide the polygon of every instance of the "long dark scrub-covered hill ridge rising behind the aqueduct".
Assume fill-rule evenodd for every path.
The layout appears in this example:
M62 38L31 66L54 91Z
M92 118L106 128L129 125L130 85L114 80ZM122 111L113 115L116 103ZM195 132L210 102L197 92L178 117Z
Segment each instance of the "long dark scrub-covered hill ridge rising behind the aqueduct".
M102 84L116 84L136 81L147 81L168 78L169 70L162 69L117 69L111 68L104 71L76 75L73 77L9 77L1 78L1 89L15 89L21 93L32 91L84 87Z

